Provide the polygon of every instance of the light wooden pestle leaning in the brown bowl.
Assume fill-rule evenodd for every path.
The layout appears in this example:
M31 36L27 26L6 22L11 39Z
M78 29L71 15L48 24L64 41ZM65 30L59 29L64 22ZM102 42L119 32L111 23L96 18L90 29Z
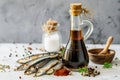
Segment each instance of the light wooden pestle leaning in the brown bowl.
M113 37L110 36L106 42L106 45L105 45L105 48L98 54L98 55L105 55L105 54L108 54L108 49L110 47L110 44L112 43L113 41Z

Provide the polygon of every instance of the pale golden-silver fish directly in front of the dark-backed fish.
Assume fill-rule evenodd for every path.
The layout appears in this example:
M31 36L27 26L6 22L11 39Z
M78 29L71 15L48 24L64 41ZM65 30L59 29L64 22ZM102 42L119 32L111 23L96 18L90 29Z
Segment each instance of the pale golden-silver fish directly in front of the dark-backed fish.
M41 75L46 74L46 72L48 70L50 70L52 67L54 67L55 65L57 65L59 63L59 60L51 60L48 64L46 64L44 67L39 68L38 71L35 73L34 77L39 77Z

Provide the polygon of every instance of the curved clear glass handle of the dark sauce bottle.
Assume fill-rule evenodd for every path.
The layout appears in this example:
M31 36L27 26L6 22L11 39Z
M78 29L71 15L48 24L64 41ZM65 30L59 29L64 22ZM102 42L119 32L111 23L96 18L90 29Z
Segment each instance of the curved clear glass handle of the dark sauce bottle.
M86 40L93 32L93 24L88 20L82 20L82 23L88 26L88 30L84 35L84 40Z

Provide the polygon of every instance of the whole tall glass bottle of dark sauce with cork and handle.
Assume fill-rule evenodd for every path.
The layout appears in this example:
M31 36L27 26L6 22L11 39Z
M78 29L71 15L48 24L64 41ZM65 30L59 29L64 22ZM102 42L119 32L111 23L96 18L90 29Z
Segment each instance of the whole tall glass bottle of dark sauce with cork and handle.
M88 20L82 20L82 5L81 3L73 3L70 6L71 10L71 28L70 37L66 45L62 63L64 66L76 70L80 67L87 66L89 63L89 57L84 39L87 39L93 31L93 25ZM88 31L85 36L82 35L82 26L88 25Z

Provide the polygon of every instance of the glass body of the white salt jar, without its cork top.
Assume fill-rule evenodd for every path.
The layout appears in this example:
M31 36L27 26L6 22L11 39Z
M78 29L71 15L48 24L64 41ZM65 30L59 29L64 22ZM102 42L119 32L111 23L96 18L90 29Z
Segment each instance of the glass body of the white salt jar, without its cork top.
M61 34L59 31L43 34L43 46L47 52L58 52L61 47Z

